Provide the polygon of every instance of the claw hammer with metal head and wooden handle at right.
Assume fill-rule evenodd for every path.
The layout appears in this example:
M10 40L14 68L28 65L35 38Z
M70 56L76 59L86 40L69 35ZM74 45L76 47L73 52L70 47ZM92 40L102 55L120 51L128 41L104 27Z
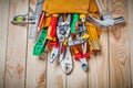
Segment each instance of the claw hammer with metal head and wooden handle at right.
M123 24L124 23L124 18L123 16L119 16L113 19L110 13L108 12L108 10L103 10L105 9L104 4L102 3L102 1L100 0L95 0L96 4L98 4L98 9L100 11L101 14L101 20L93 18L92 15L89 15L86 18L86 20L89 22L91 22L92 24L96 25L98 28L104 29L104 28L109 28L109 26L113 26L116 24ZM106 6L108 6L108 1L106 1ZM109 8L109 7L108 7Z

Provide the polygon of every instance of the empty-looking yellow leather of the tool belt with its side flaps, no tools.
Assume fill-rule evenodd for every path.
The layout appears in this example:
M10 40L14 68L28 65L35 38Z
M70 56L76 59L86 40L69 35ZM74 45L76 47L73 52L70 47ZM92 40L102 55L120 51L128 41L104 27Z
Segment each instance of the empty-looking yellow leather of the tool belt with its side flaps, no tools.
M44 0L42 11L47 12L43 28L49 26L51 14L57 13L83 13L99 18L94 0Z

